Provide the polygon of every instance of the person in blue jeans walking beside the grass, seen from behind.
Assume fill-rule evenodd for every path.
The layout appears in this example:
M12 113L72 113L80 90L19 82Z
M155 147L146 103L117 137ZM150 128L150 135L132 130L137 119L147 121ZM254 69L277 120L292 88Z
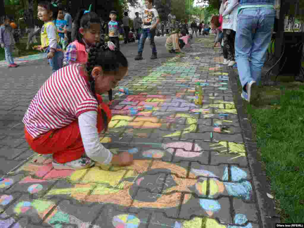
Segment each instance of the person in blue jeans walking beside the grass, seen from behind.
M265 53L271 41L275 20L274 0L240 0L237 15L235 55L242 98L257 98Z

